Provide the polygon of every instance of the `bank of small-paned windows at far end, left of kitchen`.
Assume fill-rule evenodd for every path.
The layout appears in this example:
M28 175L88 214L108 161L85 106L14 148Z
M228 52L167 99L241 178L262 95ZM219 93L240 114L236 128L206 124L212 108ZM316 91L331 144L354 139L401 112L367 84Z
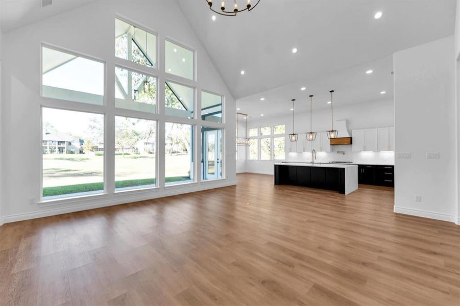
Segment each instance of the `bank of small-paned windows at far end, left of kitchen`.
M249 129L249 160L284 160L285 126L261 126Z

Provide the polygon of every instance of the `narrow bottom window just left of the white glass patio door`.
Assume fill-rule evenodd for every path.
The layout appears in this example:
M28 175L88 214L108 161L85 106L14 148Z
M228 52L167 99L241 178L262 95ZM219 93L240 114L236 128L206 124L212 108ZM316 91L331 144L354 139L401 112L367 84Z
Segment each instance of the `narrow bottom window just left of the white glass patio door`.
M165 184L193 181L193 125L165 124Z

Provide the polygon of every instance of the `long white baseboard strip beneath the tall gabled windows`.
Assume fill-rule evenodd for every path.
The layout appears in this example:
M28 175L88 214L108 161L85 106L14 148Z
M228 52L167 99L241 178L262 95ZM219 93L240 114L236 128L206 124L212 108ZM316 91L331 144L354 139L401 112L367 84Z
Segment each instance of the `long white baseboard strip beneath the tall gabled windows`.
M109 196L99 197L97 200L94 200L94 199L91 200L90 198L87 198L85 200L81 199L80 202L83 202L83 203L80 203L80 204L78 203L78 199L76 199L75 201L72 201L72 204L66 203L64 201L61 203L56 203L55 205L52 204L52 205L42 206L42 208L44 209L39 210L39 211L2 216L2 218L0 218L0 226L3 225L4 223L17 222L17 221L36 219L36 218L42 218L42 217L49 217L49 216L73 213L73 212L78 212L78 211L90 210L90 209L95 209L95 208L120 205L124 203L150 200L150 199L185 194L185 193L190 193L190 192L203 191L203 190L214 189L214 188L228 187L228 186L233 186L233 185L236 185L236 181L222 181L222 182L214 181L214 182L204 182L204 184L196 184L192 186L187 186L187 189L180 188L179 186L174 186L174 187L171 186L172 188L166 188L166 189L163 189L161 192L155 192L155 193L142 193L142 192L139 192L139 193L133 192L133 193L126 193L126 194L120 193L120 194L113 194L111 197Z

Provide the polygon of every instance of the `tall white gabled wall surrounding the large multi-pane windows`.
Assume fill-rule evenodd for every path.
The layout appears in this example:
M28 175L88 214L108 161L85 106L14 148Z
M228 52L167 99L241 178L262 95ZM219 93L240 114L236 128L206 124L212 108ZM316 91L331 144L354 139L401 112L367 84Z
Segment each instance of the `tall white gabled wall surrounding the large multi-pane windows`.
M168 37L196 49L197 93L201 89L221 93L225 100L225 173L226 179L190 185L160 187L155 190L136 191L76 200L64 200L51 206L36 203L40 198L40 106L59 105L59 100L40 97L40 44L41 42L74 50L106 62L106 100L114 100L114 25L115 15L135 21L140 26L158 33L160 69L155 72L164 81L164 38ZM235 184L235 101L208 58L187 19L175 1L96 1L81 8L34 23L28 27L4 33L2 71L2 164L1 200L3 221L41 217L58 213L108 206L141 199L161 197ZM159 86L159 101L164 101L164 92ZM200 94L197 94L200 105ZM160 109L161 110L161 109ZM111 113L113 115L113 111ZM154 116L154 115L152 115ZM155 115L159 120L165 116ZM186 120L186 119L185 119ZM195 122L195 121L193 121ZM200 131L201 121L197 120ZM160 131L162 128L160 127ZM164 142L164 135L160 140ZM199 135L199 134L198 134ZM106 135L106 171L113 171L110 155L114 131ZM164 156L159 150L158 158L163 165ZM197 139L195 156L201 156L201 140ZM160 173L162 167L160 167ZM196 169L200 169L197 167ZM197 171L200 172L200 171ZM200 173L196 173L198 182ZM161 180L161 175L160 175ZM113 187L113 183L108 182ZM113 189L112 189L113 190ZM30 204L30 198L34 203Z

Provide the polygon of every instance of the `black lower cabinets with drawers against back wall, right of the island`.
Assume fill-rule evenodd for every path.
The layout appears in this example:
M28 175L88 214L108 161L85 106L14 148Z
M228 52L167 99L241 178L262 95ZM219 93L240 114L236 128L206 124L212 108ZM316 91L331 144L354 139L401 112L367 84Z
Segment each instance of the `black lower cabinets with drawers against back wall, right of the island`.
M395 166L358 165L358 184L395 186Z

